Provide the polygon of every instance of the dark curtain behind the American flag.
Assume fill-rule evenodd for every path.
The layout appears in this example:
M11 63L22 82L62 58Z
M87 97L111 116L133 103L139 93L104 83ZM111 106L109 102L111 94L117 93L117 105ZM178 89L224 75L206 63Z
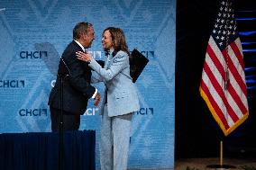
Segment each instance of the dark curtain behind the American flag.
M256 157L255 113L255 33L240 33L248 85L249 118L230 135L224 134L199 94L206 46L213 31L221 0L177 1L177 48L175 92L175 157L219 157L224 141L224 157ZM253 1L232 0L238 31L255 31L256 5ZM253 46L253 47L252 47ZM254 49L254 52L253 52ZM248 81L254 78L254 83Z

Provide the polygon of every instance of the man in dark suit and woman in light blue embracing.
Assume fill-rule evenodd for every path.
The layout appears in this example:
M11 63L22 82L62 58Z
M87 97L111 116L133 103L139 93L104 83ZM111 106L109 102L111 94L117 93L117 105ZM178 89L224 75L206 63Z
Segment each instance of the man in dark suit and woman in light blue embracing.
M102 34L106 58L101 66L87 49L95 40L93 25L78 22L73 29L73 40L59 60L56 84L50 92L51 130L59 131L60 77L63 85L64 130L78 130L80 115L87 110L87 101L94 99L100 107L100 162L102 170L126 170L133 112L139 110L139 99L130 76L130 52L123 30L108 27ZM103 82L103 97L91 83ZM102 99L101 99L102 98Z

